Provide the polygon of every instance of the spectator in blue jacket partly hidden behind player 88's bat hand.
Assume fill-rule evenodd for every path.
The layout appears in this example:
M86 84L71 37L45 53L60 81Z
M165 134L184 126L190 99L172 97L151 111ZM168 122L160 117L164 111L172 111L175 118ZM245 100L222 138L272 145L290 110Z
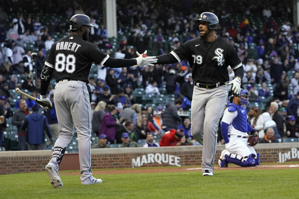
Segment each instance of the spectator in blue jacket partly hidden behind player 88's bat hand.
M57 115L56 115L56 109L55 109L55 104L54 104L54 94L52 93L50 101L52 102L52 109L45 111L44 115L46 116L49 127L51 130L51 133L53 137L58 137L59 135L59 127L58 127L58 121L57 121Z

